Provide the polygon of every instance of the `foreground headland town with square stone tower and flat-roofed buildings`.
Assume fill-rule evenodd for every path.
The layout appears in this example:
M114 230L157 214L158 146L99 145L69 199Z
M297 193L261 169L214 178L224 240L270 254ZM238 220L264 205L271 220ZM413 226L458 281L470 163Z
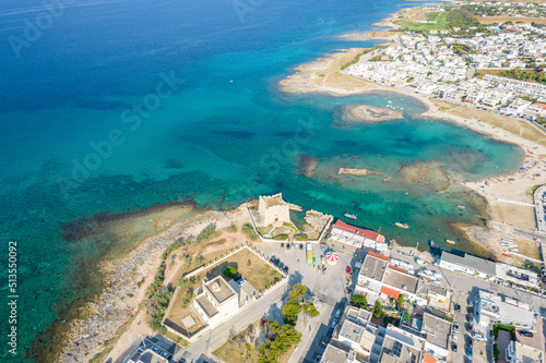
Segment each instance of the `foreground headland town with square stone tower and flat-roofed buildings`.
M508 264L260 196L241 225L201 220L167 247L150 303L100 362L544 362L544 187L535 203L541 259ZM515 239L498 244L525 257Z

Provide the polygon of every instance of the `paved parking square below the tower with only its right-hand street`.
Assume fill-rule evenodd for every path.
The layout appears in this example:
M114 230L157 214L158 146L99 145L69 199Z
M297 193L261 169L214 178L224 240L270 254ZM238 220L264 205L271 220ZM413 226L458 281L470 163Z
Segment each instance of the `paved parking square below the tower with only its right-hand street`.
M252 243L253 246L270 259L272 256L280 258L280 263L288 266L290 283L301 282L307 286L314 295L317 304L322 307L321 314L316 320L306 327L301 342L293 354L289 362L311 362L314 363L318 355L324 351L330 341L329 331L332 323L339 320L335 317L337 310L343 310L348 303L348 289L354 288L356 279L351 280L347 286L349 275L346 273L347 266L352 269L356 261L364 258L366 250L355 250L341 243L329 242L327 246L335 251L339 255L336 265L324 265L325 273L321 273L321 257L324 252L319 244L312 244L312 255L316 262L307 264L306 243L302 242L302 249L299 249L299 242L290 249L286 249L286 243L260 242Z

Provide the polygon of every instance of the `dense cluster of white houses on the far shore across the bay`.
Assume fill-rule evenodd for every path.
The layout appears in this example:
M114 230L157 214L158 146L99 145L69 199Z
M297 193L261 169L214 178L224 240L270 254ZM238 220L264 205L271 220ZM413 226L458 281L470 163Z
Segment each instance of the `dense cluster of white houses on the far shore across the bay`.
M377 47L345 72L452 104L542 122L546 84L523 81L521 75L544 68L546 28L507 23L483 27L484 33L477 26L430 29L427 36L403 32L393 46Z

